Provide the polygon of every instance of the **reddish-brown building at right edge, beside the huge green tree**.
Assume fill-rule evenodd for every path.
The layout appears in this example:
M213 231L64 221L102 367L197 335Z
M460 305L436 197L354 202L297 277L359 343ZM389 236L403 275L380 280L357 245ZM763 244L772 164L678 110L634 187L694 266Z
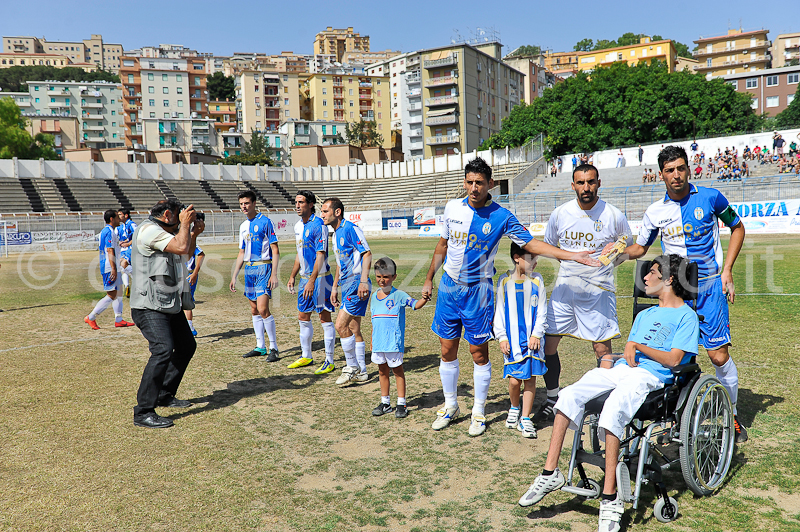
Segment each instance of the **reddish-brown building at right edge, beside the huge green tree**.
M722 76L736 92L749 95L756 113L775 116L786 109L800 87L800 65Z

